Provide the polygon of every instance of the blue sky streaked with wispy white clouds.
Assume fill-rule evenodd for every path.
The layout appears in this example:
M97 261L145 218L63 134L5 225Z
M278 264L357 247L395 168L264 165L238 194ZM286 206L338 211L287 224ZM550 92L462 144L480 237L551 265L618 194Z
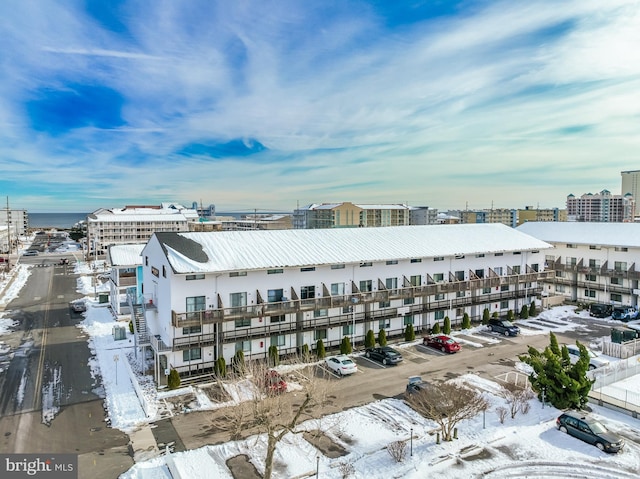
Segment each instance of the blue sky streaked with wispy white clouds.
M7 0L0 25L14 208L563 208L640 169L635 0Z

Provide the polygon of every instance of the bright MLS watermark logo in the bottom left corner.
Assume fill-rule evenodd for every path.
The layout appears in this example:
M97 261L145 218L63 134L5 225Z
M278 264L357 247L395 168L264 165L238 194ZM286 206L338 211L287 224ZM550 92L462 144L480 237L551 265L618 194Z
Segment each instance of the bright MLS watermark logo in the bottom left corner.
M2 479L78 479L77 454L0 454Z

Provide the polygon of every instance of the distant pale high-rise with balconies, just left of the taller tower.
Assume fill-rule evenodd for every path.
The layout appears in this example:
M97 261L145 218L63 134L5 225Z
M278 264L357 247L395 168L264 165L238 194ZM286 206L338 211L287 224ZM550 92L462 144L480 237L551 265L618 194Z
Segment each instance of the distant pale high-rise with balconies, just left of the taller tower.
M580 198L567 196L567 220L596 223L621 223L633 221L635 200L631 193L612 195L609 190L585 193Z

